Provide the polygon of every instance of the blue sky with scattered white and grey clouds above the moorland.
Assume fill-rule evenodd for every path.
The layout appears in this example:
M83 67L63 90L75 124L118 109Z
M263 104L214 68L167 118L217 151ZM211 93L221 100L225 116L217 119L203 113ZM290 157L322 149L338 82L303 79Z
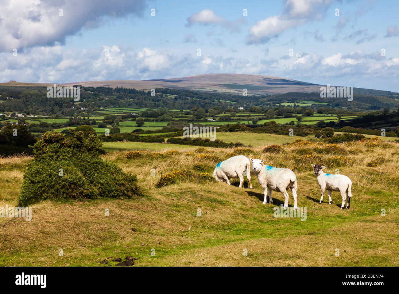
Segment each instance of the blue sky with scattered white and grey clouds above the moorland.
M0 82L277 76L399 92L396 0L0 0Z

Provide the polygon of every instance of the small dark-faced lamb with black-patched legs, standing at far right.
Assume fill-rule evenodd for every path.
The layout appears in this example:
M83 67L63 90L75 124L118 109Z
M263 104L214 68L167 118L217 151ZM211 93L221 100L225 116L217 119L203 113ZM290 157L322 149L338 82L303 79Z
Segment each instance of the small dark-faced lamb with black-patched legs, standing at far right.
M323 169L325 166L321 166L320 164L312 164L312 168L314 168L314 174L316 175L317 182L319 183L320 190L322 191L322 197L320 198L319 204L323 203L323 195L324 192L328 191L328 198L330 198L330 204L332 204L331 200L331 192L332 191L340 191L342 196L342 205L341 208L345 208L345 202L348 198L347 209L350 207L350 198L352 197L352 181L347 176L343 174L325 174Z

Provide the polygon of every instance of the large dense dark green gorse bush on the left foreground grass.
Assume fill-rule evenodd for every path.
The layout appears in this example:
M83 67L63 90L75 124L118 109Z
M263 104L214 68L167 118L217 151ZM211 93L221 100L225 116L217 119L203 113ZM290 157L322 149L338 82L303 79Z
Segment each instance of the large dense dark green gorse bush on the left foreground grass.
M19 205L45 199L131 198L137 179L99 158L101 141L70 129L69 136L46 132L33 146L34 160L24 175Z

